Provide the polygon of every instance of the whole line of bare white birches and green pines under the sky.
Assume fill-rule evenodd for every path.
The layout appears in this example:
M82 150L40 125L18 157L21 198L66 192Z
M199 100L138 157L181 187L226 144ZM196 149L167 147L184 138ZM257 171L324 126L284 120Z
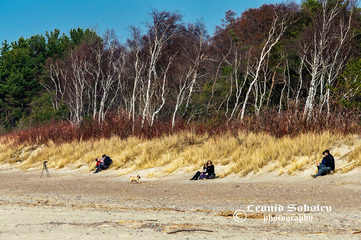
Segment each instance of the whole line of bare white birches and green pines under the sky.
M151 9L112 29L55 29L0 49L1 130L126 113L140 124L242 120L267 109L330 116L361 103L360 9L351 1L264 4L204 19ZM142 31L144 30L144 31ZM133 126L134 127L134 126Z

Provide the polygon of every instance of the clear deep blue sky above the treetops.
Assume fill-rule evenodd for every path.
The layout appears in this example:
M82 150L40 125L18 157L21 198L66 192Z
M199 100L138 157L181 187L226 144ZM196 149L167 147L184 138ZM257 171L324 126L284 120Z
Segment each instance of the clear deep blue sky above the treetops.
M98 24L100 31L114 28L121 40L127 38L125 28L129 25L141 26L147 17L149 7L156 9L179 10L184 14L185 22L195 22L204 17L208 32L213 33L214 27L221 24L227 10L242 13L247 8L255 8L263 3L275 1L242 1L242 0L134 0L134 1L79 1L79 0L0 0L0 42L8 43L23 36L52 31L55 28L69 35L72 28L89 28ZM298 0L297 2L300 2Z

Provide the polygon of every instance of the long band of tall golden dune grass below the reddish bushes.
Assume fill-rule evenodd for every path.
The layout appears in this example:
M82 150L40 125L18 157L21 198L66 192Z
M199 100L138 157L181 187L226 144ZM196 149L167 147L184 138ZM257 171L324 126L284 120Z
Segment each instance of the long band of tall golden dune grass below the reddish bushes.
M120 169L120 173L162 166L161 173L149 172L148 175L166 175L179 169L191 172L212 160L215 165L224 166L218 172L216 168L221 177L231 173L245 176L260 169L292 174L321 158L322 151L330 149L338 139L339 136L328 132L276 138L246 132L210 137L189 131L152 140L111 137L64 144L48 141L42 146L17 145L2 139L0 163L17 163L24 170L41 166L43 161L48 161L51 168L93 167L94 159L105 153L113 159L112 168ZM356 149L361 156L361 146Z

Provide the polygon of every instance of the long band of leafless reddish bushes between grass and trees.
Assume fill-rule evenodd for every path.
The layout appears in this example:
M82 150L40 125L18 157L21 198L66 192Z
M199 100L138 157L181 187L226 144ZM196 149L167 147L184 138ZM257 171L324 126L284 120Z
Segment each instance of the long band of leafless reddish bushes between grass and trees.
M125 139L129 136L152 139L170 135L179 131L192 131L195 134L208 133L210 136L230 133L236 135L239 131L265 132L275 137L297 136L306 132L323 132L348 135L361 133L361 113L358 109L336 108L330 117L317 113L310 119L305 119L303 112L286 110L280 114L276 109L264 111L259 115L251 115L243 121L196 121L185 124L177 121L173 131L170 119L155 121L152 127L140 127L141 118L134 122L128 119L126 113L108 114L104 121L86 120L80 126L70 122L52 122L47 125L33 127L27 130L13 131L5 134L18 143L44 143L52 140L55 143L109 138L118 136Z

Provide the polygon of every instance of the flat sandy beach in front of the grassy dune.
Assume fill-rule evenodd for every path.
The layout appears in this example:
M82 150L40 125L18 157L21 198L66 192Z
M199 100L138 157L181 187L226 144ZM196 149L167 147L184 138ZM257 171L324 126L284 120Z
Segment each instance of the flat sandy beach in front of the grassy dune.
M314 169L293 176L272 172L203 181L189 181L192 173L176 173L161 179L142 177L140 184L129 184L129 176L137 172L119 176L112 169L98 174L49 169L51 177L40 178L41 170L1 167L0 239L361 237L360 168L316 179L310 177ZM274 212L312 216L313 222L264 222L264 218L236 222L232 212L251 204L319 204L332 211ZM219 216L227 211L230 216Z

